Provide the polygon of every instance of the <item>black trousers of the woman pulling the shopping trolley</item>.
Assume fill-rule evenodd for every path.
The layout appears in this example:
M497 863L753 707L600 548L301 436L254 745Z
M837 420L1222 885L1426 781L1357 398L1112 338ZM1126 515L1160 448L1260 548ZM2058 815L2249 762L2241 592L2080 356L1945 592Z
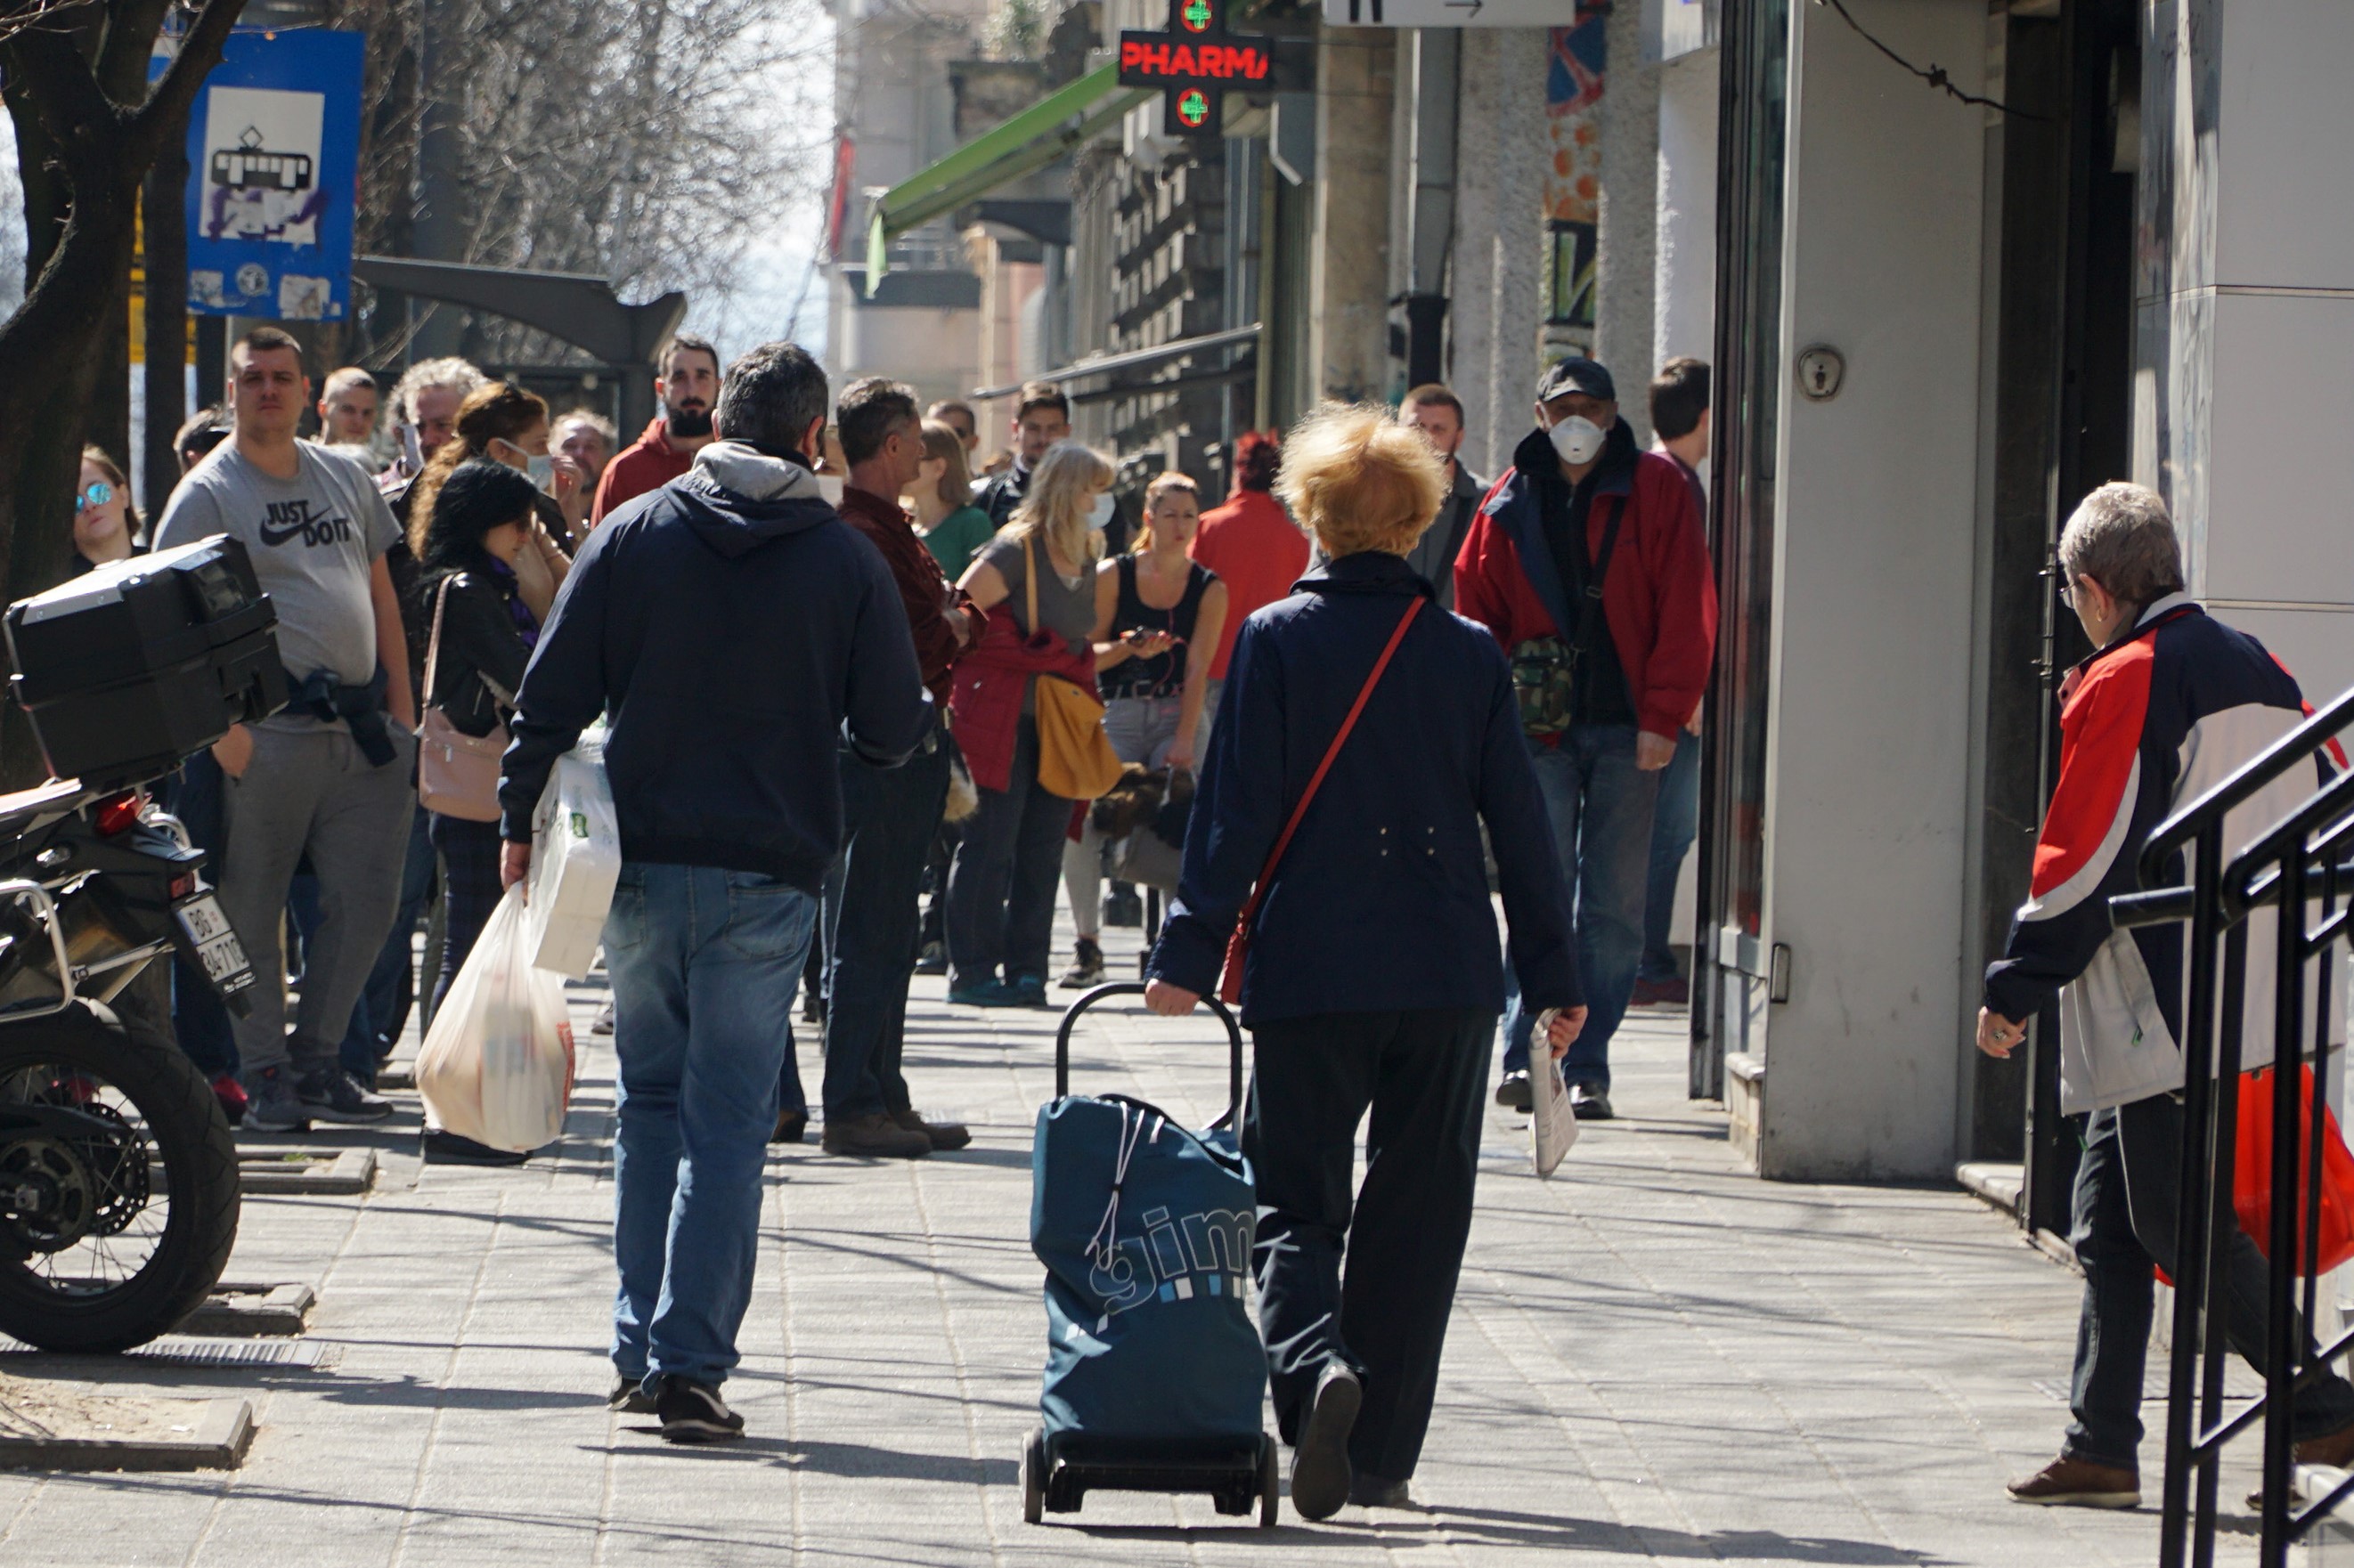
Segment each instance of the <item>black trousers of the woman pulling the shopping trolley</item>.
M1471 1236L1495 1015L1325 1012L1252 1036L1243 1149L1259 1182L1259 1335L1276 1427L1297 1443L1323 1368L1346 1363L1365 1380L1349 1460L1363 1476L1405 1481L1431 1424ZM1365 1187L1351 1212L1368 1109Z

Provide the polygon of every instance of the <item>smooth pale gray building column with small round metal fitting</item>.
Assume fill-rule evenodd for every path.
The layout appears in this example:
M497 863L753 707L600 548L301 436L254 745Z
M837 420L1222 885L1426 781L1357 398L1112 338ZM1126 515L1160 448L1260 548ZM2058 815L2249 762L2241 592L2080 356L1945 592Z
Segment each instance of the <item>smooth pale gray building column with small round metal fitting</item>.
M1791 5L1763 937L1747 1095L1758 1172L1942 1177L1954 1163L1977 532L1984 111ZM1982 0L1874 7L1963 92ZM1763 327L1758 327L1763 330ZM1846 360L1798 396L1798 351ZM1740 1064L1754 1069L1754 1062Z

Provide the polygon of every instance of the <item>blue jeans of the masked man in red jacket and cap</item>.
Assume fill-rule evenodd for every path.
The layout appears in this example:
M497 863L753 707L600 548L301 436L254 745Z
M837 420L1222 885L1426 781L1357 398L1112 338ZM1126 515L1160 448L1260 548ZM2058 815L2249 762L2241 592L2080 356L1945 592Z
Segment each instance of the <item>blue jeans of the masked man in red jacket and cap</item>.
M1634 725L1570 725L1558 746L1530 742L1554 852L1577 909L1577 972L1587 1026L1561 1059L1568 1083L1610 1088L1610 1036L1627 1017L1643 961L1643 885L1650 873L1650 808L1660 775L1634 765ZM1504 1071L1528 1071L1530 1012L1507 986Z

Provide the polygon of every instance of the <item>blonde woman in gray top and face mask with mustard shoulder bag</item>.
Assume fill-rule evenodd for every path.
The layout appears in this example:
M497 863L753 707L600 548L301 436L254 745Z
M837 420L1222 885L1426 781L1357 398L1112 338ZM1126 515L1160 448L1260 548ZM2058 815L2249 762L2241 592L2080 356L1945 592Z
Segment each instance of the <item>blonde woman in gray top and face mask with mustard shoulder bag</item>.
M1092 655L1095 556L1088 525L1111 490L1111 461L1078 443L1048 447L1012 520L972 558L958 586L1022 636L1040 631ZM1031 624L1036 563L1036 624ZM1055 932L1055 881L1071 803L1038 786L1036 676L1022 692L1005 789L982 789L982 810L949 866L949 1001L975 1008L1045 1005ZM1000 975L1003 970L1003 975Z

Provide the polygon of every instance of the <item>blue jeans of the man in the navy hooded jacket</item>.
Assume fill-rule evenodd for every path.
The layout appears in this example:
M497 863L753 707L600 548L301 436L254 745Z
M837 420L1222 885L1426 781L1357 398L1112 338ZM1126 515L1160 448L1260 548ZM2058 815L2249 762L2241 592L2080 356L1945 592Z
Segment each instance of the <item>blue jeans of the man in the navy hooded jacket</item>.
M793 986L817 897L770 876L629 862L605 916L621 1130L612 1363L718 1387L739 1361Z

